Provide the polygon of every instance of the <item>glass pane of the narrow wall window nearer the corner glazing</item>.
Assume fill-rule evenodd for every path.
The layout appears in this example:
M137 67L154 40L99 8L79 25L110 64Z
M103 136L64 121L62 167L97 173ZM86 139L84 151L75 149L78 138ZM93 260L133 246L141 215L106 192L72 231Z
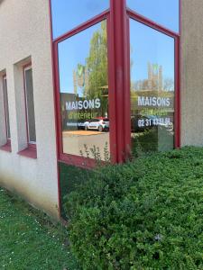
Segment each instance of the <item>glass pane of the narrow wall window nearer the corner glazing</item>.
M25 89L27 99L27 120L28 120L28 136L29 142L36 142L34 102L33 102L33 85L32 85L32 69L25 70Z

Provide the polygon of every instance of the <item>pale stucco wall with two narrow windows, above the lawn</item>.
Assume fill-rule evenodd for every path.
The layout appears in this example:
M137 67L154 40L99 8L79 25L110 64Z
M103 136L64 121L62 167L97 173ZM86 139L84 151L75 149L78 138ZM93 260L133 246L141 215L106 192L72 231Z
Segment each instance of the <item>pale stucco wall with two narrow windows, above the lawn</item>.
M24 144L21 66L32 58L37 159L20 157ZM20 63L20 64L19 64ZM0 185L58 216L58 175L48 0L0 4L0 72L6 70L12 153L0 150ZM0 130L0 137L3 136Z

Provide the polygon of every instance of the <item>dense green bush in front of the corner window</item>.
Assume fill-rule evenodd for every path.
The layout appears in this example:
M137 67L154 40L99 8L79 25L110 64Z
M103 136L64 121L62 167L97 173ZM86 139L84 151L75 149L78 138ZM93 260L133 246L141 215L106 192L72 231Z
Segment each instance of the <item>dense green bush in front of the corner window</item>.
M83 269L203 269L203 149L97 169L69 194Z

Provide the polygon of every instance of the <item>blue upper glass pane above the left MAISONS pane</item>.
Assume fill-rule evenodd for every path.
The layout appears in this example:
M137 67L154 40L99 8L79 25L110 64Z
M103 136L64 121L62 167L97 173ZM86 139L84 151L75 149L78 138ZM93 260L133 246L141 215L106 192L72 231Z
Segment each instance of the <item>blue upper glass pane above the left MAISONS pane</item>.
M53 38L109 8L109 0L51 0Z

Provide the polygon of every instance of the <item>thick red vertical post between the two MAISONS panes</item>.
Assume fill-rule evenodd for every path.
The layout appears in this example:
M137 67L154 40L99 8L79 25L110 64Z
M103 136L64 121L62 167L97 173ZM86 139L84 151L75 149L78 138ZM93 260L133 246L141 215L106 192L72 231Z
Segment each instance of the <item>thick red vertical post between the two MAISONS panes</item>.
M110 71L112 90L115 92L116 160L123 162L130 147L130 94L125 0L111 0L110 6Z

